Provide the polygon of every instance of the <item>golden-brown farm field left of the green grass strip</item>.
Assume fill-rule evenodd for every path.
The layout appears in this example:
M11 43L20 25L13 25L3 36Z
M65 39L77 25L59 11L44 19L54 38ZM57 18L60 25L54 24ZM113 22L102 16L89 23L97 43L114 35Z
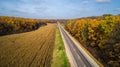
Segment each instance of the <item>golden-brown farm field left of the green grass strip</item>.
M37 30L0 36L0 67L49 67L56 24Z

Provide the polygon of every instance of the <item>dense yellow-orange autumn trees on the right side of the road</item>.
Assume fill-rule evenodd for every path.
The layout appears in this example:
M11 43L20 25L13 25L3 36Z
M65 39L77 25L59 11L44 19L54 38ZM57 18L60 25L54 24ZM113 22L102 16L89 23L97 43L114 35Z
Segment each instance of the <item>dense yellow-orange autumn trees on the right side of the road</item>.
M105 66L120 66L120 16L71 19L65 29Z

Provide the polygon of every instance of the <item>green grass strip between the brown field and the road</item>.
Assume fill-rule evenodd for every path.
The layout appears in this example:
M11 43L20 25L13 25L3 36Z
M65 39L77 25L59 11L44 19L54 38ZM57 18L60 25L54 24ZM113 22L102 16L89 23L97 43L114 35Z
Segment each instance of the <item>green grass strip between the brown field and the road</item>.
M70 67L59 29L56 29L56 39L51 67Z

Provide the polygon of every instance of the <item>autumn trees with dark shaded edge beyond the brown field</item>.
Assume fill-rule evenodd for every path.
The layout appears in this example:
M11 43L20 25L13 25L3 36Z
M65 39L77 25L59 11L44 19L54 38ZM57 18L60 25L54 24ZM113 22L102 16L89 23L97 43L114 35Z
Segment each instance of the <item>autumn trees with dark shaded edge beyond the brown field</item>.
M52 21L0 16L0 36L36 30L41 26L47 25L46 22Z

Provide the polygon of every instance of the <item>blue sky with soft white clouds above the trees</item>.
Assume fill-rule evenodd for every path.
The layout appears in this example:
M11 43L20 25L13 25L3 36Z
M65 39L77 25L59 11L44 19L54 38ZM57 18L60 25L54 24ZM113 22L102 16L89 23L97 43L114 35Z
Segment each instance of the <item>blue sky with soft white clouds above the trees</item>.
M0 16L73 19L120 14L120 0L0 0Z

